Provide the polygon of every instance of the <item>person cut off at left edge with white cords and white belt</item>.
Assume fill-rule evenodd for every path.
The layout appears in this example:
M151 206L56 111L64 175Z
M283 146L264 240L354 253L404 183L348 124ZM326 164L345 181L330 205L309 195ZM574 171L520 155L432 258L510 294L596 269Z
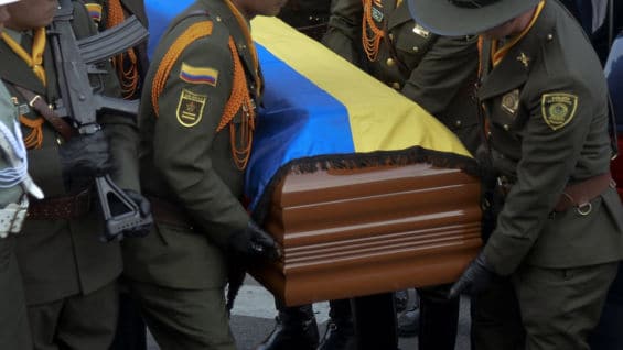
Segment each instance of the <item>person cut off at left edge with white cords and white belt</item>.
M0 32L9 19L7 4L0 1ZM28 175L25 149L21 142L18 106L0 83L0 349L32 349L22 277L14 254L15 237L28 209L28 196L42 193Z

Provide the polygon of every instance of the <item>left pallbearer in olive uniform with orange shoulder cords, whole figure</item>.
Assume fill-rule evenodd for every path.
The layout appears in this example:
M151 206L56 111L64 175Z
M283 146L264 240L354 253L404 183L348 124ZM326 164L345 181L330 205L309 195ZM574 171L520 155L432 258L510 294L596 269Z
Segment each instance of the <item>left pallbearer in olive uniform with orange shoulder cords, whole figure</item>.
M198 0L172 21L140 112L141 185L155 229L127 241L126 276L161 349L235 349L224 298L233 263L278 259L240 204L262 91L249 21L282 0Z

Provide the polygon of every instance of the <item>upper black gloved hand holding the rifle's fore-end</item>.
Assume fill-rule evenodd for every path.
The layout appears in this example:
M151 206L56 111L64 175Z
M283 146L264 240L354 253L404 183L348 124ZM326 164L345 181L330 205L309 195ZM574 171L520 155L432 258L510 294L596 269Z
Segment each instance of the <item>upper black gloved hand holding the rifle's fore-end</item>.
M78 134L60 149L63 173L69 177L96 177L110 172L108 139L104 132Z

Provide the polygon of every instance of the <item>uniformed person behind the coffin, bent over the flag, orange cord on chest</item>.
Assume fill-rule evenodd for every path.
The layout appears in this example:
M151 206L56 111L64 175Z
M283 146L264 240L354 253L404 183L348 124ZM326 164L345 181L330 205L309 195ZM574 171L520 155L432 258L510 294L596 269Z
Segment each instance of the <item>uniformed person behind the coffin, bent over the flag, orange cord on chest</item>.
M477 109L471 92L477 63L475 37L430 33L411 19L401 0L365 0L363 4L336 0L322 42L419 103L471 152L476 150ZM420 349L454 349L459 300L445 298L448 288L418 289ZM413 317L401 320L418 321L417 313L409 315ZM399 327L406 331L408 325Z

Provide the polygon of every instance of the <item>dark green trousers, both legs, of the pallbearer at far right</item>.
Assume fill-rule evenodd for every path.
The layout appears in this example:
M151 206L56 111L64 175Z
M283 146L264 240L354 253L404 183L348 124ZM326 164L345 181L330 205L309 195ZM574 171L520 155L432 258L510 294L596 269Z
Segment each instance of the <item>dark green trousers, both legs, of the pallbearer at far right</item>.
M617 262L522 266L472 298L473 350L590 350Z

